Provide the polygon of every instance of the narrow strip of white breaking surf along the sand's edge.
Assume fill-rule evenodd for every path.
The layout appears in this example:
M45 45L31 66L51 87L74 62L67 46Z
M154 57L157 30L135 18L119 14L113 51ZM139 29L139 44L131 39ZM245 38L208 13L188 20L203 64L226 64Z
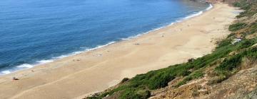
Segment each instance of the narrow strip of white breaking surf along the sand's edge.
M208 2L201 2L201 3L208 3ZM196 16L201 16L201 14L203 14L205 11L208 11L211 8L213 8L213 5L211 3L208 3L208 4L209 4L209 6L205 10L198 11L196 13L192 13L192 14L186 16L186 17L183 17L183 18L178 18L178 20L176 20L176 21L174 21L172 23L169 23L168 25L164 25L164 26L162 26L160 28L155 28L153 30L149 30L148 32L139 33L138 35L130 36L130 37L127 37L127 38L121 38L121 40L119 40L119 41L111 41L111 42L106 43L105 45L98 45L98 46L93 47L93 48L89 48L89 49L85 49L85 50L81 50L81 51L76 51L76 52L71 52L71 53L68 53L68 54L62 54L59 57L52 57L51 59L42 59L42 60L36 61L36 62L34 62L32 64L29 64L29 63L28 64L20 64L18 66L11 67L10 69L6 69L6 70L3 70L3 71L0 71L0 76L4 76L6 74L12 74L12 73L17 72L17 71L23 71L25 69L31 69L31 68L34 68L34 66L40 66L40 65L43 65L43 64L48 64L50 62L54 62L56 60L63 59L65 57L71 57L71 56L74 56L76 54L81 54L81 53L84 53L84 52L89 52L91 50L97 50L97 49L99 49L101 47L106 47L106 46L115 44L117 42L123 42L123 41L126 41L126 40L131 40L131 39L140 37L141 35L146 35L146 34L151 33L153 31L160 30L161 28L166 28L168 26L171 26L171 25L173 25L175 23L181 23L182 21L186 21L186 20L188 20L190 18L193 18L193 17L196 17Z

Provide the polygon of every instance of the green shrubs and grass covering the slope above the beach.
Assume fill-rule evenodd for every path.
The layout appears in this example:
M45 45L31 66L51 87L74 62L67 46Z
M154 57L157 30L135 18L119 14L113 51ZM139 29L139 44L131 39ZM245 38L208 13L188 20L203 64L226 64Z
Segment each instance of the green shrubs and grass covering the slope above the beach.
M245 10L237 18L251 17L257 13L256 1L248 2L243 0L236 2L234 5ZM218 47L211 54L198 59L190 59L187 63L149 71L146 74L138 74L131 79L124 78L118 87L88 98L104 98L106 95L116 95L116 98L148 98L151 96L150 92L152 90L168 86L168 82L174 78L183 76L183 80L176 87L193 79L201 78L204 75L203 69L213 64L218 64L215 69L215 75L218 76L218 79L213 81L213 83L220 83L240 70L243 57L257 58L257 48L251 47L256 44L257 37L252 37L251 39L244 38L241 42L234 45L231 44L237 36L236 33L243 35L243 37L256 33L257 23L238 22L230 25L229 30L233 33L225 40L219 42ZM231 52L236 52L236 54L231 55Z

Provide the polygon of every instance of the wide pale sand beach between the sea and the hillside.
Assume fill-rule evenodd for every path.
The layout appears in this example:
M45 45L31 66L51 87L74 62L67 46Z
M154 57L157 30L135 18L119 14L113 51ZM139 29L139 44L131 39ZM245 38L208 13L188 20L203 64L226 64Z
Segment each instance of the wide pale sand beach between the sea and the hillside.
M201 16L141 37L1 76L0 98L81 98L124 77L201 57L216 46L213 40L228 35L234 11L226 4L215 4ZM14 76L20 80L13 81Z

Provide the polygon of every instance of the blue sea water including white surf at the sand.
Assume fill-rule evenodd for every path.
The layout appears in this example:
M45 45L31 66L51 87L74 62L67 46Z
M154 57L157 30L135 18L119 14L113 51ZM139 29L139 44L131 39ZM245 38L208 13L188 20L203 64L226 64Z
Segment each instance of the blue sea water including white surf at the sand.
M188 0L1 0L0 74L140 35L208 7Z

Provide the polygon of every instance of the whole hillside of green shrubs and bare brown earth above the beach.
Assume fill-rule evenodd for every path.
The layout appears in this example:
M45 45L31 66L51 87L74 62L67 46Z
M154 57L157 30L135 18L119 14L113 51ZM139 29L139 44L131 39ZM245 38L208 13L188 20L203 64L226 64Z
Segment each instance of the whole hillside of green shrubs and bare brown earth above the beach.
M225 2L244 11L211 54L124 78L87 98L257 98L257 1Z

